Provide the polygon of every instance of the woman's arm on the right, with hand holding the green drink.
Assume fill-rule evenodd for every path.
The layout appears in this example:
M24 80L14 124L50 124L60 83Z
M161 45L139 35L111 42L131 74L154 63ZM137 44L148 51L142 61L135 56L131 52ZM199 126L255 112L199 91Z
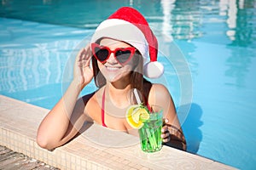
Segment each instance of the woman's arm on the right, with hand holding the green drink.
M149 105L160 105L163 108L165 120L161 135L163 143L179 150L186 150L183 130L177 118L172 96L167 88L161 84L153 84L148 96L148 103Z

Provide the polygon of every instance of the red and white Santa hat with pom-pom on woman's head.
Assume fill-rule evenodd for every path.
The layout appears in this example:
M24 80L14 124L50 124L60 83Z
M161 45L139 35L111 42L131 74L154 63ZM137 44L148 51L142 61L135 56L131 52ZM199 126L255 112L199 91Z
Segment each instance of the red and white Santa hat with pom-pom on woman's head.
M160 77L164 66L157 61L158 42L148 26L147 20L136 9L130 7L119 8L107 20L96 28L91 42L102 37L110 37L127 42L143 55L143 74L148 78ZM148 54L150 61L147 63Z

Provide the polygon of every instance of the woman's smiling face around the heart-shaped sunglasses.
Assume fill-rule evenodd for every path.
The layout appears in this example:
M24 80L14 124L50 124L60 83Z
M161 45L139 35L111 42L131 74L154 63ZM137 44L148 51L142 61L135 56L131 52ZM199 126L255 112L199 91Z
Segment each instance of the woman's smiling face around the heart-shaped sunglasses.
M108 47L111 50L116 48L131 48L131 45L125 42L113 40L111 38L103 38L100 42L101 46ZM102 75L108 82L116 82L124 77L130 77L131 71L133 71L137 65L139 59L137 55L131 57L131 59L125 64L120 65L119 62L114 58L114 54L110 54L108 60L105 63L97 61Z

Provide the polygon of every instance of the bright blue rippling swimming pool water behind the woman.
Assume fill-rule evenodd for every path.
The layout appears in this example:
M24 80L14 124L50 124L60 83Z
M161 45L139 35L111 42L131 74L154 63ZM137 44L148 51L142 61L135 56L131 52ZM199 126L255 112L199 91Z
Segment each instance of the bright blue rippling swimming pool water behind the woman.
M0 94L52 108L70 81L73 51L116 8L132 6L159 38L160 81L177 106L188 151L256 168L255 1L0 3ZM95 89L92 82L82 94Z

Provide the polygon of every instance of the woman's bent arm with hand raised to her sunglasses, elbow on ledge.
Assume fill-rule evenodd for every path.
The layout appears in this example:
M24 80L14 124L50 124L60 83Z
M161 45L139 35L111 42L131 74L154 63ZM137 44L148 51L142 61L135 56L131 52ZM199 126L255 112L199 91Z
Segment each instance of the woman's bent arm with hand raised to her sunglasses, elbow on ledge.
M89 116L84 114L83 99L78 99L81 90L93 77L89 67L90 57L89 46L79 52L74 64L73 82L38 127L39 146L51 150L65 144L79 132L84 121L90 121Z

